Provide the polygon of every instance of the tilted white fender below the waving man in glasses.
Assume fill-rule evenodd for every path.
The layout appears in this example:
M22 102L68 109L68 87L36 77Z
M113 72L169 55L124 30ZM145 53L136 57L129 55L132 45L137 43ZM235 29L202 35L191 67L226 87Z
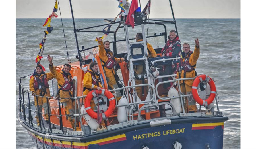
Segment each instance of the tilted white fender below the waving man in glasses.
M177 97L174 99L170 99L170 103L174 106L173 108L179 115L181 113L182 109L181 109L180 99L178 96L179 96L179 92L174 87L171 87L170 90L168 91L168 97L170 97L170 98Z

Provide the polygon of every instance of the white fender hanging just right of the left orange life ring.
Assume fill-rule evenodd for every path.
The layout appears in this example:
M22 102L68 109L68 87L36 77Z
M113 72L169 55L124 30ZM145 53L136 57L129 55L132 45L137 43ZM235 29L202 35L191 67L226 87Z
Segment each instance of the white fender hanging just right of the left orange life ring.
M121 99L118 101L118 105L126 105L128 101L125 96L122 96ZM117 108L117 120L119 123L123 123L127 121L127 110L126 107L118 107Z

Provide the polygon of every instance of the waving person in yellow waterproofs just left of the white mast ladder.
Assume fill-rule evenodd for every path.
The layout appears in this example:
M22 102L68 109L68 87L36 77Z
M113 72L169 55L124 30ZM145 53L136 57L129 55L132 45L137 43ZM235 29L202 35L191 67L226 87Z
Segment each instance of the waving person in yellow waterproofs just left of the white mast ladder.
M104 67L106 79L110 89L119 88L118 75L115 73L115 67L117 63L124 61L124 58L115 58L113 52L109 48L109 41L102 42L101 38L96 37L99 43L99 57L102 61L102 66ZM116 91L117 101L121 98L121 93L119 90Z

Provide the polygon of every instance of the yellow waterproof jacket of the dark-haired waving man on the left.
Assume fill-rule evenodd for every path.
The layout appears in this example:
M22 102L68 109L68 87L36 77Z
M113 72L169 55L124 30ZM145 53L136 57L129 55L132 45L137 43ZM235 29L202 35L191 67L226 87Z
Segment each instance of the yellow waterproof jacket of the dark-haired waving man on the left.
M65 83L63 75L61 73L57 72L56 68L53 65L52 66L49 65L49 68L50 68L51 73L53 74L53 76L56 78L56 80L58 82L58 88L61 88L61 86L63 86ZM70 79L70 78L72 79L72 76L69 74L68 79ZM61 85L61 86L59 86L59 85ZM59 91L60 98L70 98L71 97L70 95L73 96L73 91L63 91L63 90ZM69 99L61 99L60 102L66 102L68 100Z

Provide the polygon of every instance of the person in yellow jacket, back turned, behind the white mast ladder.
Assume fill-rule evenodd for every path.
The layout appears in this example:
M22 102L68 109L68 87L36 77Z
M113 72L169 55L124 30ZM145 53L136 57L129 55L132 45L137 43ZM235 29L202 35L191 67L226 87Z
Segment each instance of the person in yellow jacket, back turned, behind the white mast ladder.
M139 42L139 41L143 41L143 37L142 37L142 33L137 33L136 34L136 37L135 37L135 40L136 42ZM157 55L156 55L156 51L154 50L154 48L151 46L151 44L147 43L147 49L148 49L148 58L155 58ZM135 65L135 73L137 75L139 74L142 74L143 71L145 71L146 68L143 69L143 65ZM144 80L144 79L143 79ZM142 80L136 80L135 81L135 84L138 85L138 84L142 84ZM144 83L148 83L147 79L144 80ZM136 93L137 95L140 97L140 99L143 97L142 95L142 89L146 90L146 92L148 91L148 86L143 86L143 87L136 87L135 90L136 90Z

